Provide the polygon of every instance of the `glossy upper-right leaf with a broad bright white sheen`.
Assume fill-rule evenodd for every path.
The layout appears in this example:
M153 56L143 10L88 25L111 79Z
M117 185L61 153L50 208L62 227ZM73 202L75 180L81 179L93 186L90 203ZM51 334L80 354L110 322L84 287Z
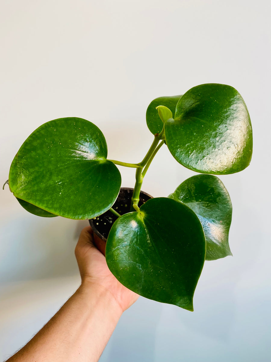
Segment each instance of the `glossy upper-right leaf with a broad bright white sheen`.
M251 122L243 98L224 84L191 88L178 101L175 119L165 122L165 140L173 157L193 171L243 170L252 155Z

